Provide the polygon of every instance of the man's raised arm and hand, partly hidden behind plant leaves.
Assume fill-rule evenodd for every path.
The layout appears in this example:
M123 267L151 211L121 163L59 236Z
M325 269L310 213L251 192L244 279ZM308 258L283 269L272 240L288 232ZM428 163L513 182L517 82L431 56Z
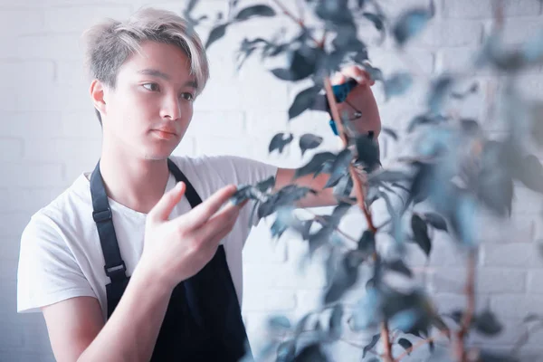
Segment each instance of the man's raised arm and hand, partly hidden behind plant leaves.
M359 84L348 94L347 101L338 104L339 114L347 112L349 115L352 115L355 111L360 110L362 117L353 119L350 123L357 130L358 134L365 135L368 132L373 132L378 147L378 136L381 133L381 118L379 117L376 99L370 88L375 81L369 79L366 71L353 66L338 73L332 79L332 83L341 84L347 81L348 78L356 79ZM317 195L308 194L308 196L301 199L297 204L298 207L319 207L338 204L336 197L333 195L333 189L331 187L323 189L329 179L329 174L323 173L315 178L313 178L313 175L308 175L292 180L295 171L293 168L279 168L275 180L275 189L278 190L289 184L295 184L297 186L310 187L318 192ZM351 195L355 195L354 190Z

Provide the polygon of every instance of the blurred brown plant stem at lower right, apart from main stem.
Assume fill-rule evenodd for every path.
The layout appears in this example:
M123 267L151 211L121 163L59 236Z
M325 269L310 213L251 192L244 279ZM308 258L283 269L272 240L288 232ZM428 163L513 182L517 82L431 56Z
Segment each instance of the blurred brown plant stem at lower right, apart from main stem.
M467 297L466 310L462 316L462 328L458 330L456 335L456 357L461 362L467 362L468 355L464 344L464 338L470 330L472 324L473 313L475 311L475 271L476 271L476 254L471 251L468 255L468 273L466 280L465 293Z

